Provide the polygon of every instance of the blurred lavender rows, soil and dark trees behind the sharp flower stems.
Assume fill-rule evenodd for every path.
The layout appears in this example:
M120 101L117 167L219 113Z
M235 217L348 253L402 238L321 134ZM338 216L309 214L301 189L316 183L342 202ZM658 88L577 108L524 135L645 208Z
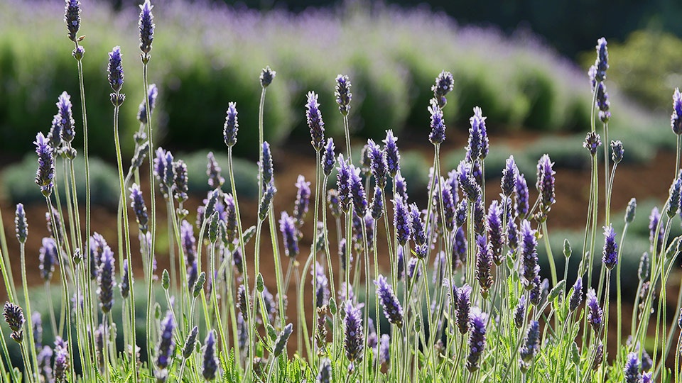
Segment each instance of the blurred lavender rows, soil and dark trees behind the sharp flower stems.
M649 212L653 206L662 206L673 176L676 137L669 118L673 90L682 85L681 2L216 0L153 4L156 35L149 75L159 88L153 114L155 144L187 162L194 193L190 211L209 189L206 153L212 150L227 167L222 126L229 101L236 101L239 110L234 150L239 157L235 166L240 202L255 206L259 73L266 65L277 72L265 105L265 136L274 146L280 190L276 211L293 207L298 174L314 179L315 152L305 125L308 91L320 94L326 133L335 138L337 148L343 146L342 118L333 96L337 74L348 74L352 81L354 153L359 153L367 138L379 141L386 129L392 129L399 137L409 194L423 203L433 159L428 99L435 77L447 70L453 72L455 89L444 110L448 138L442 150L443 168L452 170L463 159L474 106L482 107L491 135L486 160L489 198L499 193L499 174L510 154L532 185L536 161L549 153L557 172L558 202L548 221L555 254L561 254L564 238L571 240L574 254L581 252L589 193L589 155L581 145L590 129L587 69L595 60L597 39L607 38L610 139L622 140L625 148L624 162L615 176L612 216L620 233L622 211L631 197L637 197L637 218L623 255L624 278L636 277L639 257L649 248ZM127 166L133 155L133 134L139 129L138 106L144 97L137 5L131 1L82 4L90 152L97 157L92 160L97 217L93 228L114 248L118 180L107 52L120 45L124 57L122 91L127 98L120 128ZM28 205L33 237L28 244L29 259L37 260L38 238L48 235L43 199L33 183L32 141L38 131L46 133L50 128L62 91L72 95L75 148L82 148L72 48L63 24L63 2L0 0L0 207L13 254L14 206L18 202ZM81 196L83 183L81 178L77 185ZM247 214L245 219L252 220L254 215ZM312 230L310 226L308 232ZM681 233L679 224L674 224L671 238ZM166 233L158 235L162 238L158 243L164 243ZM309 245L310 238L305 240ZM578 257L571 259L572 267ZM546 262L542 254L540 258ZM562 262L558 267L563 267ZM36 274L36 282L37 278ZM634 287L626 289L627 294L634 293ZM669 296L672 313L676 294Z

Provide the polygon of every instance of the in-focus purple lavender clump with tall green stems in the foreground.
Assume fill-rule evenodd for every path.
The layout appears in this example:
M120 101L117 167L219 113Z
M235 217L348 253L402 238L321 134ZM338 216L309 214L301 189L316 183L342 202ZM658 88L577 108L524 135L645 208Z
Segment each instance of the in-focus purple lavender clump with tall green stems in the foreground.
M21 249L23 294L16 291L4 237L0 270L9 297L4 318L11 340L21 350L22 362L12 365L5 337L8 328L0 326L0 355L4 357L0 374L4 379L678 382L679 339L675 363L666 364L675 344L676 323L668 328L665 303L667 282L681 243L680 238L669 238L671 225L680 212L682 189L679 91L673 95L671 117L677 139L676 170L668 201L660 211L654 208L651 212L651 248L642 256L636 312L629 323L631 336L624 342L621 334L628 328L622 328L627 323L622 323L621 256L636 202L632 199L628 205L624 229L617 238L610 196L624 150L620 141L610 141L610 150L602 150L603 159L600 157L602 137L609 142L610 121L604 84L608 69L605 39L598 41L597 60L590 69L592 118L583 144L590 153L590 199L583 252L578 255L580 267L578 274L569 279L572 250L568 240L563 245L563 274L555 265L550 246L547 221L556 196L554 163L549 155L542 155L537 162L535 201L526 175L519 172L513 156L504 161L499 199L490 195L486 199L486 192L491 191L485 184L490 151L487 119L482 109L475 107L464 159L450 172L442 169L440 145L446 133L443 109L448 106L448 94L455 82L450 72L440 72L435 78L427 109L433 166L428 172L426 209L409 199L401 175L398 138L393 131L386 131L383 145L368 140L359 160L353 160L348 120L352 85L350 77L339 75L335 97L345 131L345 152L337 155L334 140L325 140L318 94L310 91L305 118L315 150L315 179L298 177L293 211L281 211L277 219L273 155L264 134L266 91L276 87L277 82L276 72L266 67L259 78L256 222L247 228L237 198L237 190L244 190L235 182L232 156L239 120L237 104L230 102L222 132L227 146L229 191L222 189L225 179L211 153L207 156L210 191L193 224L190 219L194 217L185 206L188 165L173 157L172 152L155 148L152 140L151 116L158 94L156 87L148 84L155 32L152 8L146 0L139 18L146 96L139 106L141 126L134 135L135 155L128 168L123 166L119 135L119 112L126 100L122 92L123 55L118 46L109 53L107 72L112 87L119 181L116 255L107 240L91 233L90 228L90 167L82 81L85 48L77 36L80 3L66 1L65 21L68 37L75 44L72 55L80 79L85 172L77 174L74 170L77 150L72 140L76 122L70 96L65 92L59 96L58 114L50 131L47 135L38 133L35 141L36 184L45 197L50 226L50 237L43 239L40 250L40 277L45 282L53 339L43 339L43 321L31 309L25 257L28 222L23 205L18 204L15 228ZM597 118L602 122L602 135L597 133ZM140 186L140 170L146 158L151 186L148 195ZM598 162L602 160L600 167ZM63 172L55 171L58 162ZM334 172L336 187L325 190ZM77 175L85 176L87 186L85 225L80 223ZM63 194L58 192L61 187L65 188ZM305 224L311 206L312 227ZM160 272L156 270L156 250L161 245L158 231L162 224L156 218L157 209L164 208L170 266ZM132 217L137 230L130 222ZM601 262L593 262L600 252L602 233ZM133 235L139 237L139 249L133 249ZM267 283L274 286L272 292L260 272L262 241L268 239L274 257L274 281ZM308 252L303 248L305 240L310 243ZM333 240L336 243L332 245ZM541 243L548 256L550 280L541 279ZM336 249L337 256L332 257ZM133 257L138 251L141 262ZM379 256L386 255L389 262L379 262ZM389 269L381 270L380 265L386 263ZM335 264L337 271L333 269ZM56 268L61 284L58 311L53 309L50 293ZM612 277L617 291L615 319L609 315ZM133 288L135 279L144 282L144 289ZM159 279L161 295L154 288ZM291 294L292 289L295 294ZM121 311L117 311L121 318L114 318L112 313L115 301L122 303ZM682 292L677 301L676 312L681 309ZM136 313L139 302L144 305L141 315ZM288 309L289 305L292 309ZM166 308L166 313L161 307ZM31 315L25 315L24 310ZM136 323L138 318L143 318L144 324ZM615 347L609 347L607 330L614 320L617 342ZM138 328L144 328L141 337ZM653 340L647 338L651 331L655 334ZM122 347L117 343L121 338ZM289 344L293 339L296 347ZM651 356L645 346L653 350ZM75 368L76 361L80 369Z

